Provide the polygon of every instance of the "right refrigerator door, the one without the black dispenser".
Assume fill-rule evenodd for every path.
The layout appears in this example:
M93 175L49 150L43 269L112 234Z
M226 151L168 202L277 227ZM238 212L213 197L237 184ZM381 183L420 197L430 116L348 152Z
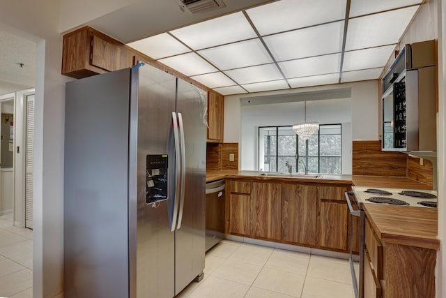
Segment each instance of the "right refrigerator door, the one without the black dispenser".
M204 269L206 185L206 93L178 79L177 113L183 120L184 188L175 246L175 295ZM180 124L181 125L181 124Z

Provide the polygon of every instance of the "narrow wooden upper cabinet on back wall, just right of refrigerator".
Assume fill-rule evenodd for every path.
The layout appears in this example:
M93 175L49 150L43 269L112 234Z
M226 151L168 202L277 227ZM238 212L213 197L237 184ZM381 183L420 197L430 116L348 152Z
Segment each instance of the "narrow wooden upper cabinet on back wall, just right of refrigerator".
M208 93L208 142L223 142L224 96Z

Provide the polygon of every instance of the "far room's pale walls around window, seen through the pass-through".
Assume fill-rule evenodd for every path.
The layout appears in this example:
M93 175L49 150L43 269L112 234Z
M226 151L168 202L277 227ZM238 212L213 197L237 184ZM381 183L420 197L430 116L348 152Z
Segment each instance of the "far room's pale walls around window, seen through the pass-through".
M254 102L253 99L252 103ZM259 126L291 126L304 121L303 102L243 105L241 111L242 170L259 169ZM351 131L346 131L346 128L351 129L350 98L307 101L307 121L317 121L319 124L346 124L342 129L343 143L350 144L351 147ZM342 153L342 164L348 165L351 152ZM351 166L343 167L342 170L345 174L350 174Z

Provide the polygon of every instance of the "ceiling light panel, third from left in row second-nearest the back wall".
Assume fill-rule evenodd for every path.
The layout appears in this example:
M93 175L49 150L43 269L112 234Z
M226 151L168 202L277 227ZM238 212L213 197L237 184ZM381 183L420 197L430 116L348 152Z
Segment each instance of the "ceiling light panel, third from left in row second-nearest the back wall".
M279 62L287 78L307 77L309 75L321 75L325 73L339 72L341 54L329 54L305 59Z

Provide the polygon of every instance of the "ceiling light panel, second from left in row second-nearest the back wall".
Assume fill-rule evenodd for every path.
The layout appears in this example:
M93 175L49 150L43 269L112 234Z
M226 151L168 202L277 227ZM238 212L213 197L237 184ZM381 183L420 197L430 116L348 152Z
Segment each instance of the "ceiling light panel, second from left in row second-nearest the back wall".
M238 84L249 84L283 79L275 64L265 64L224 71Z

